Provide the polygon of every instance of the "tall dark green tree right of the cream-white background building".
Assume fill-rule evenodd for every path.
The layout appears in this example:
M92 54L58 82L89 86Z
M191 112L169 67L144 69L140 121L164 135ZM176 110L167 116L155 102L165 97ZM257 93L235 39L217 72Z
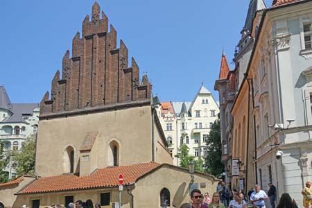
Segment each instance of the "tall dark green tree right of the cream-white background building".
M207 156L204 166L208 173L215 176L224 172L219 119L212 124L207 138Z

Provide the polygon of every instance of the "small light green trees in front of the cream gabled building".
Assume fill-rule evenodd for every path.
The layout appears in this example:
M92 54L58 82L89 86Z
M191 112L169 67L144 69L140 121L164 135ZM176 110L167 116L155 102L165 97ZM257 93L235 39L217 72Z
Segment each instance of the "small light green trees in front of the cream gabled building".
M195 171L200 171L203 172L203 161L202 159L195 160L194 156L189 155L189 147L186 144L182 144L177 151L177 155L175 157L180 159L180 166L182 168L189 168L189 161L193 159L194 164L195 164Z

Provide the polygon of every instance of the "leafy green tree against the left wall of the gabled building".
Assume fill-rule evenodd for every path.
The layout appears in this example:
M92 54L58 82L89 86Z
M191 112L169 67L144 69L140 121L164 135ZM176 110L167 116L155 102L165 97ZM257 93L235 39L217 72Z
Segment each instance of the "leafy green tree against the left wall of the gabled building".
M34 173L35 137L35 135L27 137L21 144L21 150L13 153L13 161L17 163L17 175Z

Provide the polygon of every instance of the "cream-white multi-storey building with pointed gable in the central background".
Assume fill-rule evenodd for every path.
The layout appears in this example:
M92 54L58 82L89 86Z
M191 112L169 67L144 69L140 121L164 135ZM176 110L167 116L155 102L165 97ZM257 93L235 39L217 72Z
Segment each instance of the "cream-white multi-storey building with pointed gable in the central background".
M218 118L218 103L203 85L192 102L162 102L158 115L168 148L173 157L181 144L187 144L189 155L197 159L207 154L206 138L212 123ZM178 159L173 159L175 165Z

